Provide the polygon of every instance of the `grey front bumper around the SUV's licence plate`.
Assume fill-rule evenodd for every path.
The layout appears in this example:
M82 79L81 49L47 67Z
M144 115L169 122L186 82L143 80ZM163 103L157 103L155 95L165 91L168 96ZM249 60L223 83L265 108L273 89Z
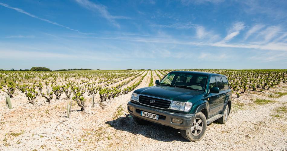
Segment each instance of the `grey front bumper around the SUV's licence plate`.
M164 110L159 110L159 109L135 104L132 102L127 103L127 110L129 111L131 116L139 117L141 119L148 120L153 123L170 126L170 127L173 127L175 129L180 129L180 130L187 130L190 127L192 127L192 124L195 118L195 114L183 114L183 113L164 111ZM140 116L140 111L146 111L149 113L160 115L160 118L159 120L155 120L155 119L151 119L148 117ZM172 122L173 118L182 119L183 120L182 124L173 123Z

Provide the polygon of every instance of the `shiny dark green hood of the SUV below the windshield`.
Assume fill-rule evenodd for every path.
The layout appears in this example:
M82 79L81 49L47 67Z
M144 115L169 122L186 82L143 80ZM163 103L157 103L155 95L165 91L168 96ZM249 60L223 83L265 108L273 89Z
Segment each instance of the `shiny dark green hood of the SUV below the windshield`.
M187 88L156 85L153 87L140 88L134 91L137 94L149 95L159 98L165 98L173 101L188 101L192 97L204 94L202 91L190 90Z

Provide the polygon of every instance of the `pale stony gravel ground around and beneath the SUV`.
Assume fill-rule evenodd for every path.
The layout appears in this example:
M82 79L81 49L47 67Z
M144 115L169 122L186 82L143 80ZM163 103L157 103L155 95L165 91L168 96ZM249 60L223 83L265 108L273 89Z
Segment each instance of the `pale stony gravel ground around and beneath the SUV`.
M149 82L150 72L138 88L147 87ZM286 115L280 112L280 117L271 116L278 114L276 108L287 105L287 95L268 98L286 88L281 84L240 98L234 95L227 123L209 124L205 136L197 142L186 141L171 127L137 125L126 110L132 92L103 105L97 103L94 108L87 103L85 112L74 103L69 119L69 100L47 104L43 99L31 105L19 93L12 100L15 108L9 110L1 93L0 150L287 150ZM256 98L273 102L256 105Z

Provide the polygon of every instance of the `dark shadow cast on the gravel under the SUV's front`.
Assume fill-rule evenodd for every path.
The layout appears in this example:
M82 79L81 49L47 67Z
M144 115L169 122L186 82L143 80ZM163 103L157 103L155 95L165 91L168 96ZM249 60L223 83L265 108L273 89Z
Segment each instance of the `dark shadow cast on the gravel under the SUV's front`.
M126 131L134 135L143 135L147 137L147 139L151 138L163 142L172 142L175 140L188 142L181 137L177 129L155 123L139 125L133 120L130 114L127 114L126 117L119 117L115 120L107 121L106 124L109 124L116 130Z

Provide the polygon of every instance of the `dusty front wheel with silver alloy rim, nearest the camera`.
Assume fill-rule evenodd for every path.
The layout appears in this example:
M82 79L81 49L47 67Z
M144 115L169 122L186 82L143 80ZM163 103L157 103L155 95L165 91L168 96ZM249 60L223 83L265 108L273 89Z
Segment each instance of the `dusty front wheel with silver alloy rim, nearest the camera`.
M189 141L201 140L205 134L207 127L206 117L202 112L198 112L195 115L192 127L188 130L180 130L180 134L183 138Z

